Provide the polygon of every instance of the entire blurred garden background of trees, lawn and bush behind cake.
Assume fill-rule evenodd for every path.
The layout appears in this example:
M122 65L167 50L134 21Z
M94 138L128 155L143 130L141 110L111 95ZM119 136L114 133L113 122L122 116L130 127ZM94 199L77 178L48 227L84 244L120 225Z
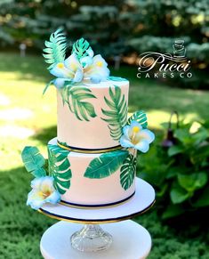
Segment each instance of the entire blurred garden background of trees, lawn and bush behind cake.
M56 222L26 206L32 178L20 153L31 145L46 156L56 136L42 50L57 28L68 49L83 36L112 76L130 80L129 112L144 109L157 135L137 171L157 191L156 205L134 218L151 233L149 258L209 258L208 0L0 0L0 258L41 258L40 238ZM140 54L172 53L175 39L185 42L193 76L137 78ZM168 131L173 110L179 123L174 115Z

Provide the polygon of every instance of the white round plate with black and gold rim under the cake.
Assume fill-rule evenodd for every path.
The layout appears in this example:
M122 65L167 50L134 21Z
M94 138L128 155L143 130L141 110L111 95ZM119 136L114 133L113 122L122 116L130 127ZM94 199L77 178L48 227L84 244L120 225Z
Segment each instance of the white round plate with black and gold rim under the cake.
M155 190L152 186L136 179L136 190L133 198L118 206L103 208L76 208L61 204L44 204L39 212L58 220L76 223L111 223L142 214L155 202Z

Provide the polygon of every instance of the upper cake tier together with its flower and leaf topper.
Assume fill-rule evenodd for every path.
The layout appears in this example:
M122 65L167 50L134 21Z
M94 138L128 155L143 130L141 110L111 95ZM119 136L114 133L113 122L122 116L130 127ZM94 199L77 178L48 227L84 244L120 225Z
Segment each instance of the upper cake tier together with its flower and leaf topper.
M77 152L121 149L127 124L129 82L110 77L108 63L94 54L84 38L76 40L66 56L67 38L59 28L45 41L44 58L57 88L58 144Z

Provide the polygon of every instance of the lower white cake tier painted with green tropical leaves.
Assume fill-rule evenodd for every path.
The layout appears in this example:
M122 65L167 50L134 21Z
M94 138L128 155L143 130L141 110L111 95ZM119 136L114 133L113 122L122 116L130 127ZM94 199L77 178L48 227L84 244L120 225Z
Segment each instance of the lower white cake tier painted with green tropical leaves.
M136 158L132 150L100 154L64 150L54 138L48 143L49 172L67 206L114 206L132 198Z

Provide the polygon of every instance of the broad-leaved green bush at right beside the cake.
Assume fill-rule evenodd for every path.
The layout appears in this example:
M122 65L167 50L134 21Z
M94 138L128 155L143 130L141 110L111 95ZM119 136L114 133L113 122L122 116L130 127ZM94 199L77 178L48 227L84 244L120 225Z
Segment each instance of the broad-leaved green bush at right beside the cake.
M141 158L141 177L155 186L163 219L208 209L208 125L181 122L176 129L173 125L173 145L163 147L163 140L158 140Z

